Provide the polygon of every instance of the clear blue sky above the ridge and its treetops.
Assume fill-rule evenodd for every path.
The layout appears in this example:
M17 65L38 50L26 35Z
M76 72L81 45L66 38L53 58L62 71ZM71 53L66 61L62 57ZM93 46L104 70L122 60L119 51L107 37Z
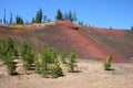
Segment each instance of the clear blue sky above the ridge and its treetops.
M133 0L0 0L0 19L7 10L31 21L39 9L54 20L57 10L76 12L78 20L99 28L130 29L133 25Z

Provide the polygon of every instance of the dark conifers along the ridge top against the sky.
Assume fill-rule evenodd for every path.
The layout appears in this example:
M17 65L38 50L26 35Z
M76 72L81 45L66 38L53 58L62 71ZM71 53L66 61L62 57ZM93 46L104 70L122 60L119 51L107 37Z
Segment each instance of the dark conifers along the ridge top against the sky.
M27 23L43 23L43 22L50 22L51 20L48 19L48 16L43 13L42 9L39 9L35 13L34 16L32 16L31 22L24 22L23 18L20 15L16 16L16 21L13 22L13 14L12 12L10 13L10 19L9 22L7 20L7 10L4 9L4 15L3 19L0 19L0 24L27 24ZM55 20L70 20L71 22L76 22L76 13L69 11L65 13L62 13L60 9L58 9L57 14L55 14Z

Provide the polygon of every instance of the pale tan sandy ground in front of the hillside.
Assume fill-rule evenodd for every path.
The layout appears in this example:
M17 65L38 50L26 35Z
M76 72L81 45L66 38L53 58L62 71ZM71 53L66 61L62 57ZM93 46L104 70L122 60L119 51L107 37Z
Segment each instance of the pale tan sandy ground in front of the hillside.
M0 88L133 88L133 63L113 64L115 70L104 70L103 63L80 59L80 73L68 73L64 77L42 78L39 74L9 76L0 63Z

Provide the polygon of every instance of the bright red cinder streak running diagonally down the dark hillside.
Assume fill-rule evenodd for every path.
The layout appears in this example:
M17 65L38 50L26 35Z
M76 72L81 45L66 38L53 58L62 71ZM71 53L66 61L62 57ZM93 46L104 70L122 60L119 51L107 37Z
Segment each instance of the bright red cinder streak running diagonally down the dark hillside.
M81 30L73 30L70 26L75 26L69 21L58 21L57 24L60 24L59 29L61 29L65 34L68 34L68 38L72 42L75 46L78 54L85 57L93 57L99 61L104 61L109 53L113 56L114 63L123 63L127 62L121 55L119 55L115 51L109 48L108 46L103 45L96 38L93 38L90 35L86 35Z

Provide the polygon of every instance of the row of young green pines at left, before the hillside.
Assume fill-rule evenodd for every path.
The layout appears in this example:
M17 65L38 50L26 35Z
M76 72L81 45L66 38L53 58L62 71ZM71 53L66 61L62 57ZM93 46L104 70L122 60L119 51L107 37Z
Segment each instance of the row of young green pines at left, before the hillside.
M68 67L69 73L74 73L78 67L76 58L73 50L70 55L66 55L64 51L61 55L58 55L53 47L43 45L38 53L27 41L23 41L18 47L12 38L0 38L0 61L7 65L9 75L19 73L16 70L16 59L19 59L22 62L24 74L33 69L34 73L41 74L42 77L57 78L63 75L61 64Z

